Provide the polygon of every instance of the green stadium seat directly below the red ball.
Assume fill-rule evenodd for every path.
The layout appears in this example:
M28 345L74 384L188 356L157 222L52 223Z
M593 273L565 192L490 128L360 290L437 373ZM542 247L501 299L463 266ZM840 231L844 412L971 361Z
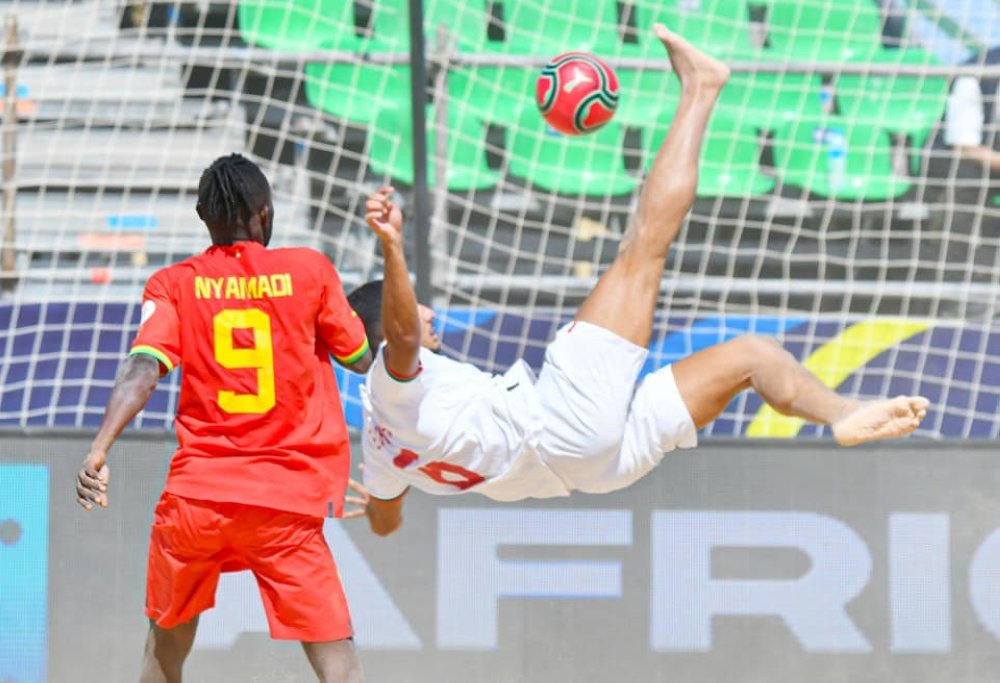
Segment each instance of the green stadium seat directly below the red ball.
M508 170L533 185L572 195L623 195L639 179L625 170L623 130L612 121L590 135L561 135L526 106L509 133Z

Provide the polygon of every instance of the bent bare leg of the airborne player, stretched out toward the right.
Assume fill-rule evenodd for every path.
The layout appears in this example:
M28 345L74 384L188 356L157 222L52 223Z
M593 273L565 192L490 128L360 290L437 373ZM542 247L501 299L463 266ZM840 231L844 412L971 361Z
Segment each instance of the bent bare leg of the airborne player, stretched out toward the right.
M783 415L829 425L843 446L909 434L927 414L922 396L876 401L844 398L825 386L770 337L744 335L673 365L674 381L701 429L736 394L753 389Z

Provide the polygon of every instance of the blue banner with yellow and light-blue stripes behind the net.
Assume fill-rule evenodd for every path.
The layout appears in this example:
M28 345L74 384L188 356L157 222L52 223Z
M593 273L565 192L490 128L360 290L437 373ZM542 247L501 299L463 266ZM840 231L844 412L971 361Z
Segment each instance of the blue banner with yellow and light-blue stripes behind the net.
M501 372L517 358L538 370L564 314L438 310L446 353ZM96 427L139 323L139 305L0 305L0 426ZM1000 327L991 322L851 317L658 316L645 372L740 334L775 337L839 392L866 398L921 394L931 410L918 435L1000 436ZM170 428L179 372L160 382L135 423ZM360 378L338 370L348 423L360 426ZM706 436L821 436L741 394Z

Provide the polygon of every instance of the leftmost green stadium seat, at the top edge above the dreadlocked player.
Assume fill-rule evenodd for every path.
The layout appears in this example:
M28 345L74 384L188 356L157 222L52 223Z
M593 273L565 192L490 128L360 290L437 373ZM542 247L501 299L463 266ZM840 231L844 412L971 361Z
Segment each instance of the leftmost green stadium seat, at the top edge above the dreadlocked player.
M253 45L275 50L357 50L354 3L342 0L240 0L240 33Z

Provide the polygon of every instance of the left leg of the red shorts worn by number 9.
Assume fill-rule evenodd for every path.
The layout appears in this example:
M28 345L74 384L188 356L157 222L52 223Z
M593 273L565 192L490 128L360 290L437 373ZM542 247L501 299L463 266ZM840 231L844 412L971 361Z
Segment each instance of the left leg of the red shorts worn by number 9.
M216 506L164 493L153 514L146 616L160 627L190 621L215 604L225 539Z

